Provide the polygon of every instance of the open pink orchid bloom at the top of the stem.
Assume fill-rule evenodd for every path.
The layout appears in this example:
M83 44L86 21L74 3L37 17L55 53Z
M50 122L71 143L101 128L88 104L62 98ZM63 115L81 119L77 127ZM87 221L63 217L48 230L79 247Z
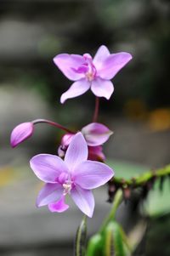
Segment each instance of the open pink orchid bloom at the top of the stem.
M110 81L122 69L132 55L126 52L110 54L109 49L99 47L94 59L90 54L58 54L54 57L54 64L59 67L65 77L74 83L64 94L60 102L82 95L91 88L94 95L109 100L114 91Z

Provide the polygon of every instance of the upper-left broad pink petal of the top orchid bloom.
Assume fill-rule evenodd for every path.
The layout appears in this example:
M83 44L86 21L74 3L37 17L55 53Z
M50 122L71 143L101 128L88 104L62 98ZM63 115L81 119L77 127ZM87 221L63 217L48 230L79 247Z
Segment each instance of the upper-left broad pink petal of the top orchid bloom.
M83 73L76 71L84 62L84 58L78 54L58 54L54 57L54 64L71 81L77 81L84 77Z

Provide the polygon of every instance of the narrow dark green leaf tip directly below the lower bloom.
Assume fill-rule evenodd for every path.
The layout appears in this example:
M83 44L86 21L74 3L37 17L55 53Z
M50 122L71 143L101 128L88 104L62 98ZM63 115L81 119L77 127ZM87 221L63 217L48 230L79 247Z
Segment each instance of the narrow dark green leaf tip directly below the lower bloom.
M87 237L87 219L82 219L77 229L75 256L85 256L86 253L86 237Z

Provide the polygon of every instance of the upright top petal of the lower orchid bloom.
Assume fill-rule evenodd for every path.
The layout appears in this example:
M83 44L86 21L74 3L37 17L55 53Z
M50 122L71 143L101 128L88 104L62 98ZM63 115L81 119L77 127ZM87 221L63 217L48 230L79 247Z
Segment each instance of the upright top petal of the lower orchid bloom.
M65 163L71 172L81 162L88 159L88 145L82 134L77 133L72 139L71 144L65 153Z

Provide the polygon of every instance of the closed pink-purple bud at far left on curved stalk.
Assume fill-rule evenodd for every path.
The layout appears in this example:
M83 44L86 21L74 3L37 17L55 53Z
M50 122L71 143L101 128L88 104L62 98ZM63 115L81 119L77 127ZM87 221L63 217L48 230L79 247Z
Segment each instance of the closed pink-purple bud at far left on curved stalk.
M31 137L33 134L34 125L32 122L22 122L17 125L11 133L10 145L14 148L19 145L22 141Z

